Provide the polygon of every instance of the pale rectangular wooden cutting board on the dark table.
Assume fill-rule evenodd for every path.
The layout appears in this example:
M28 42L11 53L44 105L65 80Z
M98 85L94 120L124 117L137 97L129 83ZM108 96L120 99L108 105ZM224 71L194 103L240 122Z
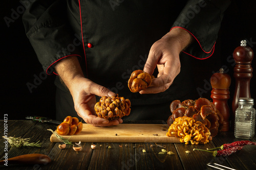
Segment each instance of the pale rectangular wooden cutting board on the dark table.
M55 131L56 132L56 131ZM77 135L62 136L72 142L161 142L180 143L180 138L167 137L168 125L162 124L119 124L112 127L94 127L83 124ZM116 135L117 134L117 135ZM157 135L154 135L157 134ZM54 134L51 142L61 142Z

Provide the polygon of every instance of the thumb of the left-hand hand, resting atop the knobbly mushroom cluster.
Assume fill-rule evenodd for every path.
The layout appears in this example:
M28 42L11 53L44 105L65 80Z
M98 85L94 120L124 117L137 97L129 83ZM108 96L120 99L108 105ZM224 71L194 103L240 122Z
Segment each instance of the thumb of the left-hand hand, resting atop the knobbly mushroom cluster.
M91 94L95 94L95 95L98 95L98 96L115 96L116 93L112 92L110 89L104 87L104 86L101 86L99 84L96 84L96 83L93 83L91 88L90 88L90 93Z

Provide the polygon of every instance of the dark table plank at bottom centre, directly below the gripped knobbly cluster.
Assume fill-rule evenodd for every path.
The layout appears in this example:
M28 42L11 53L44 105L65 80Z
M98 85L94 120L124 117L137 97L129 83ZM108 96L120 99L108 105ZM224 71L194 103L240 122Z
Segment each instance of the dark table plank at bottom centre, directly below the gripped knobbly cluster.
M88 169L135 169L133 143L95 143ZM102 147L100 147L100 144ZM125 147L125 144L127 147ZM111 147L111 149L109 149Z

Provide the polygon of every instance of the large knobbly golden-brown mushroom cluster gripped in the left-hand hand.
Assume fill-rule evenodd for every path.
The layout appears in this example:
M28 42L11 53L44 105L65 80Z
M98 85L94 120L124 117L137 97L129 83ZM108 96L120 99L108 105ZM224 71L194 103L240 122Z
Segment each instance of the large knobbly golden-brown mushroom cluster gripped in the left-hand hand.
M103 96L94 106L94 110L98 117L105 119L116 119L127 116L131 112L131 102L129 99L124 99L116 96Z

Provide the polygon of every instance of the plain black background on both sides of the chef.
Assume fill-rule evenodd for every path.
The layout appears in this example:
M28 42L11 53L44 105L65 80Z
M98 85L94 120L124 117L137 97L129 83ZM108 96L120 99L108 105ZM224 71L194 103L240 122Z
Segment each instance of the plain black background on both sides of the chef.
M55 118L55 76L47 76L41 68L33 48L25 35L22 23L22 4L18 0L4 1L1 6L1 117L8 119L25 119L26 115L39 115ZM4 17L12 18L8 27ZM240 45L242 39L251 43L248 45L256 52L256 1L232 1L223 18L222 27L216 43L215 53L206 60L197 61L195 79L197 89L203 90L200 96L210 100L209 82L213 72L225 66L231 76L230 99L234 92L232 53ZM196 60L196 59L195 59ZM230 61L231 60L231 61ZM256 68L254 58L252 67ZM256 73L255 73L256 74ZM253 76L250 82L251 97L256 99ZM36 80L37 79L37 80ZM36 80L36 81L35 81ZM35 82L34 82L35 81ZM184 82L189 83L189 82ZM28 84L34 88L28 88ZM35 88L36 87L36 88ZM255 108L255 107L254 107Z

